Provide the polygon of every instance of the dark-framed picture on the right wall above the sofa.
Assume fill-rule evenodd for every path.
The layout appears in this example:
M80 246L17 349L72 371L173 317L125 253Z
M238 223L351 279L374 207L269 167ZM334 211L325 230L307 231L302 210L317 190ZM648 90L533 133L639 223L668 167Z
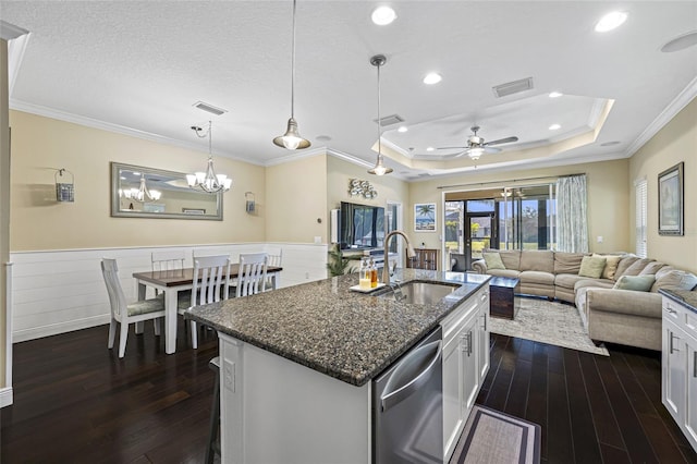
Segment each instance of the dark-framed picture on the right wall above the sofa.
M683 162L658 174L658 233L683 233Z

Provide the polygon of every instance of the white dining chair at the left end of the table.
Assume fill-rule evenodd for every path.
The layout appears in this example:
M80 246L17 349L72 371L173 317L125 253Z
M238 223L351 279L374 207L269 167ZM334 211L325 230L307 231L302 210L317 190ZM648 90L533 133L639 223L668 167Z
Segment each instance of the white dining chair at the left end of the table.
M155 334L160 334L160 318L164 317L164 301L162 298L143 300L126 303L126 297L119 280L119 267L115 259L103 258L101 260L101 274L107 284L109 304L111 306L111 320L109 322L109 350L113 349L117 337L117 325L121 325L119 337L119 357L126 352L126 339L129 338L129 325L152 319Z

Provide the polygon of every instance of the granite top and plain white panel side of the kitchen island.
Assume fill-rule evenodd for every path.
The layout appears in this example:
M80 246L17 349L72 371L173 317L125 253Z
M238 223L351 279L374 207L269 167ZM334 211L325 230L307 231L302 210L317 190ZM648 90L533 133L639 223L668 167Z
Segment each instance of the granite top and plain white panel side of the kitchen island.
M223 462L371 462L370 380L489 279L417 269L395 278L458 288L433 304L407 304L353 292L357 276L348 274L185 315L220 337Z

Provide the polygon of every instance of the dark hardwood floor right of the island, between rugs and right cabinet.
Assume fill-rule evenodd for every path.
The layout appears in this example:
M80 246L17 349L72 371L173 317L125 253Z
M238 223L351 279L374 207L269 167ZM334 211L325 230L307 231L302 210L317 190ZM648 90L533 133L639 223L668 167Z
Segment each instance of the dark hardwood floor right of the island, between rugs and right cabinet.
M697 463L661 404L659 352L610 357L491 334L477 403L537 423L543 463Z

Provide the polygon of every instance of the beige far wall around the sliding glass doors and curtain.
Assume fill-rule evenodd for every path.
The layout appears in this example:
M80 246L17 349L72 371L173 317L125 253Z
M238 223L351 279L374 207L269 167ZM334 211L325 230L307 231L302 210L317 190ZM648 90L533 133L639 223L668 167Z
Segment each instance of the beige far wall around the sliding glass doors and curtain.
M406 227L409 234L413 235L417 244L426 243L427 247L439 248L440 236L442 234L442 192L444 190L439 186L457 185L457 184L476 184L484 182L500 182L500 185L506 183L506 180L539 178L539 176L557 176L574 173L586 173L588 185L588 236L591 252L604 253L616 251L632 251L633 245L629 242L629 231L627 223L629 220L629 183L627 178L628 160L621 159L614 161L592 162L585 164L572 164L557 168L523 170L512 172L485 172L485 173L467 173L460 176L438 179L428 182L415 182L411 184L409 200L406 209L406 217L412 224L413 208L415 203L436 203L438 209L437 216L437 233L419 232L415 233L412 225ZM534 181L530 181L534 182ZM494 186L486 185L452 187L447 191L457 190L477 190ZM409 229L411 228L411 229ZM597 236L602 236L603 242L597 243Z

